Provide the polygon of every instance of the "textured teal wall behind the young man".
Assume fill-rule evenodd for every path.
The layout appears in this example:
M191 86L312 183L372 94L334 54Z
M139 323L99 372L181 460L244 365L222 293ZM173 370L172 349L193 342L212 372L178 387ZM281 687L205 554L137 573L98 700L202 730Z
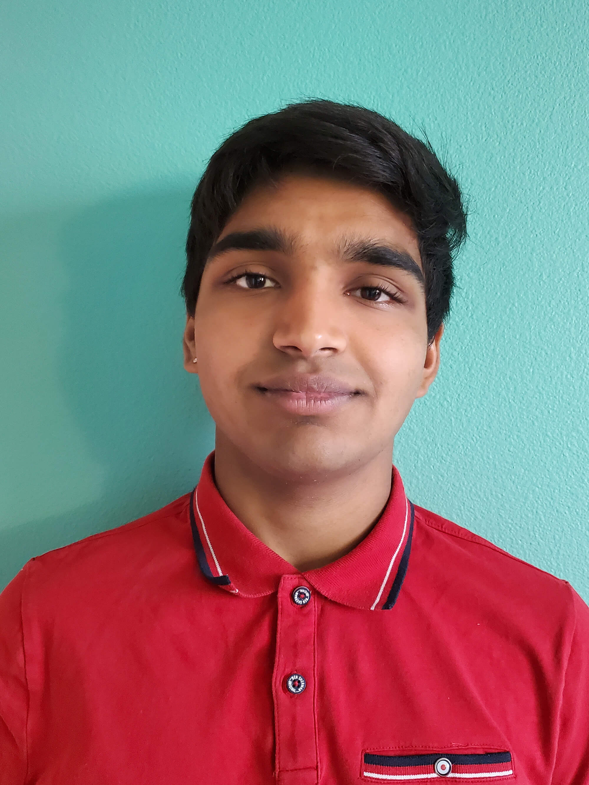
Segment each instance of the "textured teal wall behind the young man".
M0 42L0 585L163 506L213 427L181 367L188 203L305 96L426 129L470 195L413 500L589 599L586 0L20 0Z

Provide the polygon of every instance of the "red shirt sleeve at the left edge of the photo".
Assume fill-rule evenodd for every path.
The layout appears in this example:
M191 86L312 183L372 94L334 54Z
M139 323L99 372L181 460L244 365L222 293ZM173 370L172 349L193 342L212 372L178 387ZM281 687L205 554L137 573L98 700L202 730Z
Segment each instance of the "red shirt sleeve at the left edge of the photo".
M24 666L22 592L27 568L0 594L0 785L27 776L28 690Z

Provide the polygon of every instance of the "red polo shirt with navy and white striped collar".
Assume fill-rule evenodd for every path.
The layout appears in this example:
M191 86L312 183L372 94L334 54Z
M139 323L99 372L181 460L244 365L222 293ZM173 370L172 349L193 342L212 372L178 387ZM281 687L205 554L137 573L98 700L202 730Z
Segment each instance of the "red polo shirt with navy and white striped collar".
M196 493L0 598L2 785L587 785L588 742L587 606L414 508L396 470L320 569L256 539L209 458Z

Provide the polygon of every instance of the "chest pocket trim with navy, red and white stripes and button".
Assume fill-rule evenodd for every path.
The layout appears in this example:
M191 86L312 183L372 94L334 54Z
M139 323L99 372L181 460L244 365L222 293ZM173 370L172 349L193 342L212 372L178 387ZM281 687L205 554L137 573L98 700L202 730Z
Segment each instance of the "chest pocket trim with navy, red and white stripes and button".
M502 782L514 778L510 752L431 752L410 755L362 754L362 777L371 782L434 780L470 780Z

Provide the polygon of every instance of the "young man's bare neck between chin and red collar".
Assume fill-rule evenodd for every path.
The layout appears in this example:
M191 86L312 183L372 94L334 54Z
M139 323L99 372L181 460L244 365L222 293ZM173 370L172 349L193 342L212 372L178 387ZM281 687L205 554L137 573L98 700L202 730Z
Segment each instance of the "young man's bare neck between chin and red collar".
M243 525L304 572L345 556L379 520L390 495L392 449L348 473L284 480L218 436L214 476Z

